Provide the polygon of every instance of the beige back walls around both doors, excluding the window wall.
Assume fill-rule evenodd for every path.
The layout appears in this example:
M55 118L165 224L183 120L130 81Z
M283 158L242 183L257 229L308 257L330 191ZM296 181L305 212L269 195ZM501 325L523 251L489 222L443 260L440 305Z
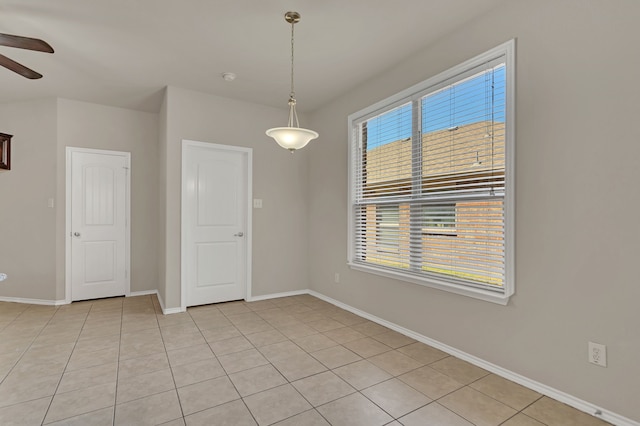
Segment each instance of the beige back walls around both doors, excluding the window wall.
M307 288L307 158L264 130L286 111L168 88L159 114L66 99L0 105L16 135L13 170L0 172L0 297L65 298L65 147L131 152L131 290L180 306L181 140L254 149L253 289ZM54 198L55 208L47 201ZM19 226L16 226L19 224Z

